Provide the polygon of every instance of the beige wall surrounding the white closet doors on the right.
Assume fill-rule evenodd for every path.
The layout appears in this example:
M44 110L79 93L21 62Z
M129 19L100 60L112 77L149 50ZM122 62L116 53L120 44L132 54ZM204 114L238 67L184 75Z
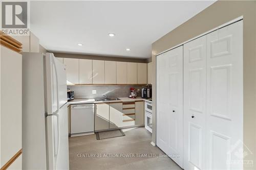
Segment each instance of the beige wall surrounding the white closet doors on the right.
M152 44L153 61L153 111L156 112L156 54L175 45L214 29L232 19L243 16L243 65L244 65L244 143L253 152L245 159L253 160L256 169L256 91L255 91L255 54L256 54L256 1L218 1L173 31ZM167 18L167 16L165 16ZM173 17L173 16L169 16ZM156 114L153 114L152 141L156 143Z

